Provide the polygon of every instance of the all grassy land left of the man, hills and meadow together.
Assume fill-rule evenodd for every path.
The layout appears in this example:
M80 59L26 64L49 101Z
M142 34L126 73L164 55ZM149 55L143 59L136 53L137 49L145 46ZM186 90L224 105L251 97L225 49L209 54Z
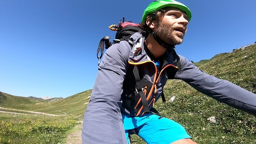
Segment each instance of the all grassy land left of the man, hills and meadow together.
M77 121L82 121L90 93L91 90L86 90L48 102L1 92L0 143L65 143L68 132L79 124Z

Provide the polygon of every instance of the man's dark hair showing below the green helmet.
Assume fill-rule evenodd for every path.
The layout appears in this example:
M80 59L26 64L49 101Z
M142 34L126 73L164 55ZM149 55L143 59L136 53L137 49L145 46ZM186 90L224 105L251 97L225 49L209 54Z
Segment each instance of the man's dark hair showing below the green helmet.
M163 19L164 17L164 14L166 14L166 8L162 8L158 11L155 11L155 12L152 12L148 15L146 15L146 20L148 18L150 18L150 21L155 21L155 24L159 24L159 22ZM139 27L142 29L142 30L146 30L146 29L149 29L148 25L146 24L146 20L144 23L139 23Z

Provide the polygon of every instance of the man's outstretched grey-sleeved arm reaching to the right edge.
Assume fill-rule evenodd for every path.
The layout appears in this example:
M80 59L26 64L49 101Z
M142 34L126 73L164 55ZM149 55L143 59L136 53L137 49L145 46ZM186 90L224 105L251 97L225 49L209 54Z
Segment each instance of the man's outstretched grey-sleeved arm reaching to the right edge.
M256 95L227 80L217 79L199 70L192 62L180 56L182 71L176 79L182 79L193 88L217 101L256 115Z

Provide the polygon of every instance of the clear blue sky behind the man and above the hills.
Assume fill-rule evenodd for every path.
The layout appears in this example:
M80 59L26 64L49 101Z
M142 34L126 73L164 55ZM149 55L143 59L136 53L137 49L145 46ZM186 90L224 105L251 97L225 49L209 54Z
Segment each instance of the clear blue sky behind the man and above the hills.
M99 40L152 0L0 0L0 91L63 97L92 89ZM256 41L255 0L180 0L192 11L177 54L198 62ZM106 87L107 88L107 87Z

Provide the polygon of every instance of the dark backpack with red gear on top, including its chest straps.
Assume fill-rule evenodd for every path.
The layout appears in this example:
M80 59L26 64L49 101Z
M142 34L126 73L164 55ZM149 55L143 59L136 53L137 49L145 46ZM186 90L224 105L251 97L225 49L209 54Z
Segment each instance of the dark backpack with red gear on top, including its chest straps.
M132 42L132 40L130 40L130 36L132 36L136 32L142 32L142 33L144 33L144 35L147 35L138 26L139 26L139 24L133 23L132 21L125 21L124 18L122 20L120 20L118 25L111 24L111 26L109 26L110 30L117 31L117 33L115 33L115 39L113 40L113 42L110 41L110 36L104 36L99 41L99 46L98 46L98 50L97 50L97 58L99 60L98 65L101 61L102 55L104 54L104 45L105 45L105 49L108 49L114 43L119 43L121 40L126 40L130 44L131 49L132 49L134 43ZM101 52L100 55L99 55L99 52ZM135 76L136 88L142 87L143 82L141 82L138 67L136 67L136 66L133 67L132 71ZM146 100L146 96L144 95L144 93L142 91L139 92L139 95L141 96L143 110L145 113L154 112L155 114L160 115L159 112L155 108L152 107L151 109L149 109L148 101ZM165 102L166 99L164 98L164 93L162 93L161 97L162 97L163 102Z

